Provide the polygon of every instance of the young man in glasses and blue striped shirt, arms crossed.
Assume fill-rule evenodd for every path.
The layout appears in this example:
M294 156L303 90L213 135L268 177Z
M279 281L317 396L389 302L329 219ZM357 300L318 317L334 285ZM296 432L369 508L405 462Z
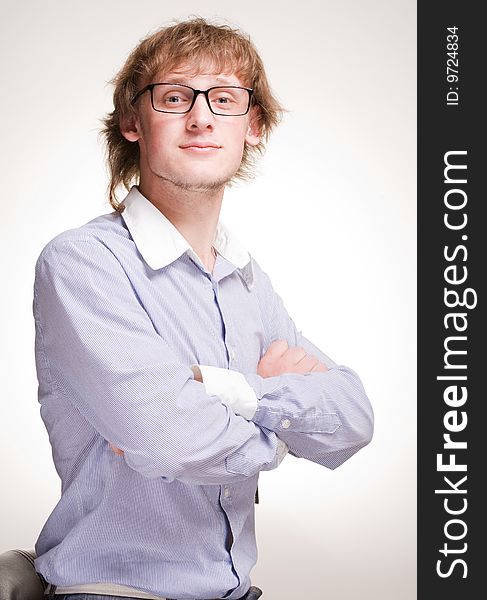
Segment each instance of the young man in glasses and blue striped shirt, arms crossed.
M287 452L337 467L369 442L372 410L219 222L281 111L249 40L200 18L162 29L114 104L115 211L36 265L39 400L62 480L36 568L73 599L258 598L259 472Z

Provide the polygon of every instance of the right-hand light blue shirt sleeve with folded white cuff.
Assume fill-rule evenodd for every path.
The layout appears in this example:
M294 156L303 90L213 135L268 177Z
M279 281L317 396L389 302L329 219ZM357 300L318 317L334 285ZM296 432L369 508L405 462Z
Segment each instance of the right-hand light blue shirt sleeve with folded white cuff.
M253 263L269 345L284 339L289 346L300 346L318 358L329 370L266 378L245 373L248 389L244 390L234 371L200 367L203 381L207 377L212 393L234 412L274 431L290 454L334 469L370 442L372 407L358 375L337 365L297 330L269 277L255 260ZM248 400L249 389L256 398L255 405Z

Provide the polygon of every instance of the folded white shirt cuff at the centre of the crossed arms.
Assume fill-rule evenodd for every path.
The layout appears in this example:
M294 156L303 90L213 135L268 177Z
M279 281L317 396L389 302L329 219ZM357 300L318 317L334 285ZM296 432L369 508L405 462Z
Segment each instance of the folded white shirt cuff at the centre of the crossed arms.
M201 377L207 394L218 396L236 415L250 421L257 410L257 397L242 373L208 365L191 365L196 377Z

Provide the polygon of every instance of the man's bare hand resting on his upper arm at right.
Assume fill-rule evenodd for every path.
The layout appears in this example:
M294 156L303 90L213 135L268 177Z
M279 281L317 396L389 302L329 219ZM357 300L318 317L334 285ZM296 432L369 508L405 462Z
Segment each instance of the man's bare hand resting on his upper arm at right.
M325 373L328 367L303 348L289 348L286 340L276 340L267 348L257 365L257 375L275 377L283 373Z

